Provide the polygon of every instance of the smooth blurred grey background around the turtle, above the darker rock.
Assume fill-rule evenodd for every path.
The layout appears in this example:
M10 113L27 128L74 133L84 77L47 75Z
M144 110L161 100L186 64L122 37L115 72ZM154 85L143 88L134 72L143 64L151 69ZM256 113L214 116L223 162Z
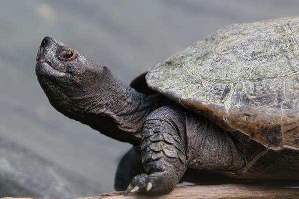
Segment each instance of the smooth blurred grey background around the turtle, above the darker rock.
M52 36L125 82L231 23L298 15L298 0L1 0L0 136L113 191L130 148L51 107L34 72ZM0 163L1 164L1 163Z

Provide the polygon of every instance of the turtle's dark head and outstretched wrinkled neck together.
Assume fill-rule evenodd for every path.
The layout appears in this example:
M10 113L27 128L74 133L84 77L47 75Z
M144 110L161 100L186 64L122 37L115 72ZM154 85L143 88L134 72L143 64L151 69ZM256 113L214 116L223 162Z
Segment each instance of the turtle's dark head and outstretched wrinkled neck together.
M139 142L155 98L136 92L108 68L51 37L42 40L36 61L38 82L56 110L112 138Z

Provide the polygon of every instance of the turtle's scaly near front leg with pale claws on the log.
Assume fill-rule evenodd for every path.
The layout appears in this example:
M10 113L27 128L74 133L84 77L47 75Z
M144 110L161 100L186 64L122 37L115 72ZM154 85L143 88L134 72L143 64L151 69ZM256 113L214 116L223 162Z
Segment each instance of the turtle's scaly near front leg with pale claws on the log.
M163 106L147 117L142 132L141 158L146 173L135 176L125 195L143 192L166 194L173 190L187 168L181 113Z

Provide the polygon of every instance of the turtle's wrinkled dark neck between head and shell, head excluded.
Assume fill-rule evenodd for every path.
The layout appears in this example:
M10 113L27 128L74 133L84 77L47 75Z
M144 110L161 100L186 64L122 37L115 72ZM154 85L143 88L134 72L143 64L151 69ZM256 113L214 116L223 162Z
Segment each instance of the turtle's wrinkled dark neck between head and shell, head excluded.
M139 143L143 121L158 100L156 95L135 91L108 69L98 88L84 98L81 122L109 137L133 144Z

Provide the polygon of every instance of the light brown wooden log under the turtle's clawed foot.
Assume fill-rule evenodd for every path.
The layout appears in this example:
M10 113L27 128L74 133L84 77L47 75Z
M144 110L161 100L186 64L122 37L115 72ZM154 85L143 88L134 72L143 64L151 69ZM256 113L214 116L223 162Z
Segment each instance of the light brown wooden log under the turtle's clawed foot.
M161 196L146 196L139 193L124 196L123 192L112 192L81 199L299 199L299 187L266 184L194 185L176 187L171 193Z

